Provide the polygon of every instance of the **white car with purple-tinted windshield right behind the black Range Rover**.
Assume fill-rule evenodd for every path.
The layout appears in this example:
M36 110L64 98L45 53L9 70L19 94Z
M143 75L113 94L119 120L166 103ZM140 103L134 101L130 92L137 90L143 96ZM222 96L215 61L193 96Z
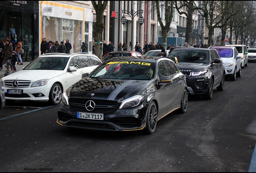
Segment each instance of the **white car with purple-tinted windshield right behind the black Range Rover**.
M210 46L209 48L217 50L223 61L226 77L229 77L231 80L235 80L236 76L241 77L241 56L238 54L235 46Z

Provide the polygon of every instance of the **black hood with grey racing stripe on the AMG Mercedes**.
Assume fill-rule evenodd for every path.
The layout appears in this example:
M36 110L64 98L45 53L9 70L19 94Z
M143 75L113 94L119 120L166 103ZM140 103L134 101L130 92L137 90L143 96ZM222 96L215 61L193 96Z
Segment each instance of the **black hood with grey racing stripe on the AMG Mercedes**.
M71 87L70 98L118 101L152 89L152 80L102 80L84 78Z

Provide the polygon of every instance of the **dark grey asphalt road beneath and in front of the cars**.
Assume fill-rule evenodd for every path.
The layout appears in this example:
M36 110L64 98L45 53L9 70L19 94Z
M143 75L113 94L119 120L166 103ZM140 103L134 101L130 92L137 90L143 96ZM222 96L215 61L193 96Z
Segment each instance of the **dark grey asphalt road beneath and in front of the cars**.
M0 111L0 171L255 172L255 79L249 62L213 99L190 95L187 113L161 119L152 135L69 129L56 123L58 105L14 102Z

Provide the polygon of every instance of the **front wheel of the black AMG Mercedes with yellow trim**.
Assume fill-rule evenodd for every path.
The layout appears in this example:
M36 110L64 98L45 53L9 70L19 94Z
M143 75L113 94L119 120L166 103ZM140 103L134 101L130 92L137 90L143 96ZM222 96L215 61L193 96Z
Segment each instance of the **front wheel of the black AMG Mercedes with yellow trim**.
M154 101L152 101L149 104L149 107L147 109L147 114L146 114L146 133L147 134L152 134L155 132L155 129L157 127L157 105L155 104Z

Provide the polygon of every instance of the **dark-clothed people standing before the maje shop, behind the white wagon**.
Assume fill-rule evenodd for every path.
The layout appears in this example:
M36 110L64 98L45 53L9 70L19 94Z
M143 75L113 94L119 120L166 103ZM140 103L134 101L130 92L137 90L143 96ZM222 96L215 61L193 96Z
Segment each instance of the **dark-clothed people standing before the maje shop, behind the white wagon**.
M84 42L83 42L84 43ZM40 51L41 54L45 53L66 53L70 54L70 50L72 49L72 45L70 44L69 40L66 39L62 40L60 43L58 41L46 41L46 38L43 38L41 45L40 45Z

